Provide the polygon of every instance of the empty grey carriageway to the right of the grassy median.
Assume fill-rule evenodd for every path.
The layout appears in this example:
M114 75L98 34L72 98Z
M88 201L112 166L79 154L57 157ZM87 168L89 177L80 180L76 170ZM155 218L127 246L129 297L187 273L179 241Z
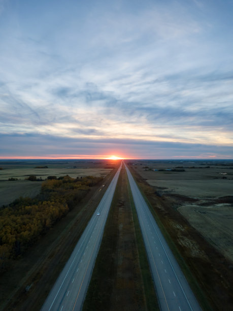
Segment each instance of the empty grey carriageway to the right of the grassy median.
M126 166L125 166L126 167ZM161 310L201 310L183 272L126 167Z

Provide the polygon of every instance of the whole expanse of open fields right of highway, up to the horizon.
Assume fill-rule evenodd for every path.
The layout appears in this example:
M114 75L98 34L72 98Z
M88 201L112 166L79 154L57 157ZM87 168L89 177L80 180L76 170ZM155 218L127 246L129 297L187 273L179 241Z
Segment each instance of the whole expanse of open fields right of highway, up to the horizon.
M190 225L233 261L233 170L227 164L142 161L132 167L155 193L172 197Z

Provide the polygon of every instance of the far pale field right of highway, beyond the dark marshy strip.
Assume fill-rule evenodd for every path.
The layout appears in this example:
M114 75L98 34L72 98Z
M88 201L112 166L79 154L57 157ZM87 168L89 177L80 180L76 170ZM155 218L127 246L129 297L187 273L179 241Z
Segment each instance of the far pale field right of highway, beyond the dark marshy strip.
M181 166L185 171L167 171ZM190 168L193 166L195 168ZM206 168L207 166L210 168ZM180 194L199 199L233 195L233 169L227 166L199 165L193 162L149 163L148 165L148 162L144 162L143 165L134 167L150 185L167 194ZM153 169L164 171L153 171Z

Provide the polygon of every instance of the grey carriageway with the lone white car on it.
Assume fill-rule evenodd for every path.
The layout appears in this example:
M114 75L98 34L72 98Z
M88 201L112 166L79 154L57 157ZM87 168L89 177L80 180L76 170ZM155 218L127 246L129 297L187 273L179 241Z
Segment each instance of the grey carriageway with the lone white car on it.
M42 311L81 310L121 166L122 164L75 246L70 259L57 278L42 306Z

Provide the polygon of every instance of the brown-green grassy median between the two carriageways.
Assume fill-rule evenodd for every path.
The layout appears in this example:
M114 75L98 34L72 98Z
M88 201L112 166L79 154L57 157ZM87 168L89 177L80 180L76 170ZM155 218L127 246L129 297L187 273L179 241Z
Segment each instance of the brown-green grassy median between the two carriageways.
M83 311L158 309L142 237L138 243L135 212L122 168Z

